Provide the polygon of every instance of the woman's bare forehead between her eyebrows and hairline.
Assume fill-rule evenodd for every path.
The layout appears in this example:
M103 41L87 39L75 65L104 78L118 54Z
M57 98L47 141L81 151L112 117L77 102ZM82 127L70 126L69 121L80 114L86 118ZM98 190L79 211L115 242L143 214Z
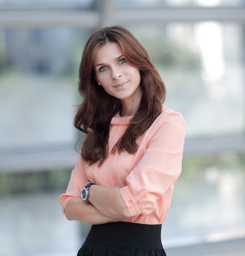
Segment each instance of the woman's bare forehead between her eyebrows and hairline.
M119 43L116 43L116 42L107 43L98 49L97 53L95 54L93 64L97 65L99 63L107 63L110 61L114 61L116 58L118 58L122 54L123 54L123 51Z

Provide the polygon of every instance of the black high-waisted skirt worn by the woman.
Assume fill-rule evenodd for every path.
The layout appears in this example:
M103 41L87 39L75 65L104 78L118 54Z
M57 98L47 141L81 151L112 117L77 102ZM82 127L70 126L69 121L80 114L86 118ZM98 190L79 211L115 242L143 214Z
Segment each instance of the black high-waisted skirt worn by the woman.
M92 225L77 256L166 256L161 244L161 225Z

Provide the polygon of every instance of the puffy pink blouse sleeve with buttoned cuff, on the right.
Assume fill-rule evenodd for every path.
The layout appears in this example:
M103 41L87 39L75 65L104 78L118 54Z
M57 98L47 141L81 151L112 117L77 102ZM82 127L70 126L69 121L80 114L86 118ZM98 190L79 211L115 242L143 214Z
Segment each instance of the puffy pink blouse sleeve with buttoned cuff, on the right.
M130 215L147 215L157 200L168 194L171 200L174 182L181 174L185 121L172 110L162 113L143 137L135 157L139 164L126 177L121 196ZM168 193L168 191L171 191Z

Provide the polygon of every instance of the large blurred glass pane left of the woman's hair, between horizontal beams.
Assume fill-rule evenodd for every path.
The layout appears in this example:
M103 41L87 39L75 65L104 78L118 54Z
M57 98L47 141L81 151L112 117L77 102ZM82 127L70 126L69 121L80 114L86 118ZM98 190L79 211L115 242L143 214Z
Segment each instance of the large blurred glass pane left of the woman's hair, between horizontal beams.
M0 149L73 143L86 29L0 31Z

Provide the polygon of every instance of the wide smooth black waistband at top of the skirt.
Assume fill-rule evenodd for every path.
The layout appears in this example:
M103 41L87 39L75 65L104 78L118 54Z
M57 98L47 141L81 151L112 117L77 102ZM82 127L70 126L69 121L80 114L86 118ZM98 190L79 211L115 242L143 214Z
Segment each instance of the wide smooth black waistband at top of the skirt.
M146 225L131 222L110 222L93 225L89 240L107 245L142 249L162 249L161 224Z

